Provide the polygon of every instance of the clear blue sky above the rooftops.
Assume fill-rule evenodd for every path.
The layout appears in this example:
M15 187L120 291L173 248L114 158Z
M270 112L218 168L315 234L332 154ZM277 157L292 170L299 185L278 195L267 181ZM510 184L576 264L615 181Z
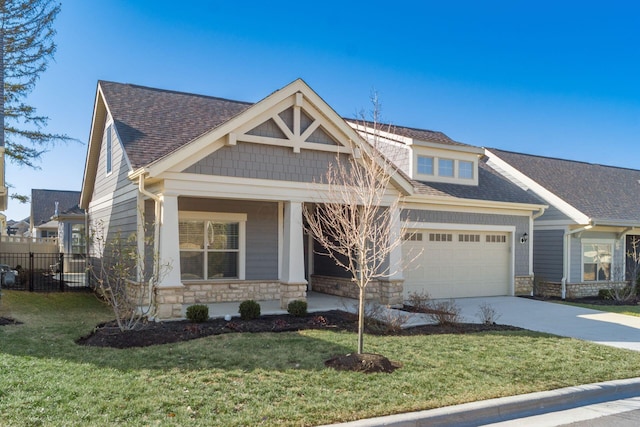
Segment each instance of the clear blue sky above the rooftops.
M633 1L65 0L30 96L52 147L7 165L13 192L80 190L99 79L258 101L304 79L339 114L484 147L639 168L640 6ZM8 219L29 215L9 201Z

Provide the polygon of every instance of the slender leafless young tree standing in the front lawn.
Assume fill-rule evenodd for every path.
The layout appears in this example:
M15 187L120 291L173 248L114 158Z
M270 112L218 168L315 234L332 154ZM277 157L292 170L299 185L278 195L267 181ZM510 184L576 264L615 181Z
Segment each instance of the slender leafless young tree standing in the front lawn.
M392 276L391 253L401 245L399 207L402 196L393 189L397 173L381 154L380 105L372 97L373 129L368 141L352 142L352 156L338 155L323 176L327 187L316 204L303 209L306 231L323 248L322 255L351 274L358 286L358 353L363 352L365 291L367 285ZM363 120L363 123L365 121Z

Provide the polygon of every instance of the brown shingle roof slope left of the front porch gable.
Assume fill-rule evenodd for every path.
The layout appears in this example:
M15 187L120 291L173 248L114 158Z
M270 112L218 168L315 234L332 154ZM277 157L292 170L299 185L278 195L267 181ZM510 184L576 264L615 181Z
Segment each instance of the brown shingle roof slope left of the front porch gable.
M134 169L164 157L252 105L132 84L99 84Z

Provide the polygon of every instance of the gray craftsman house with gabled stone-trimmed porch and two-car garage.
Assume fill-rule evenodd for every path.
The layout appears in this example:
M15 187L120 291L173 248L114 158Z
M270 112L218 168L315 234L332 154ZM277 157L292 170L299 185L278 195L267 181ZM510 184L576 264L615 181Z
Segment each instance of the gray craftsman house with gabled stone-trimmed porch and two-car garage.
M327 193L336 156L357 158L352 143L372 132L302 80L255 104L100 81L80 207L108 238L158 220L155 249L172 264L156 292L160 318L195 303L354 295L345 272L315 253L302 209ZM480 148L419 129L381 136L403 153L390 191L405 196L396 217L411 231L390 260L424 251L369 297L529 294L528 237L544 204L488 168Z

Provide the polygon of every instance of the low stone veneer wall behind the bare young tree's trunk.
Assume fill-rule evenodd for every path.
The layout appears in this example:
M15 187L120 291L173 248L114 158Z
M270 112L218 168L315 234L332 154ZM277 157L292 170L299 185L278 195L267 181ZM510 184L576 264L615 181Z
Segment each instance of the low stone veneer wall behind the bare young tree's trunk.
M365 300L381 304L402 305L402 280L375 280L365 289ZM359 288L353 279L333 276L311 276L311 289L314 292L358 299Z

